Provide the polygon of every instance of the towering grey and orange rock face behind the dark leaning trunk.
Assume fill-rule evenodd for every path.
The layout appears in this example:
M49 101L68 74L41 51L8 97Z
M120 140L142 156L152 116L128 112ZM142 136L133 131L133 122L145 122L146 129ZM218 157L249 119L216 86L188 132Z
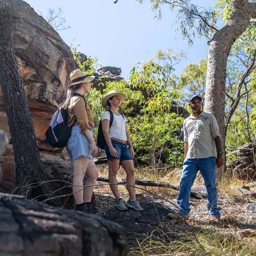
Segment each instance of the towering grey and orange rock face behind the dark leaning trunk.
M45 141L52 113L64 101L69 73L77 67L72 52L52 26L22 0L10 0L14 20L15 55L28 97L38 146L53 149ZM0 128L9 132L0 90Z

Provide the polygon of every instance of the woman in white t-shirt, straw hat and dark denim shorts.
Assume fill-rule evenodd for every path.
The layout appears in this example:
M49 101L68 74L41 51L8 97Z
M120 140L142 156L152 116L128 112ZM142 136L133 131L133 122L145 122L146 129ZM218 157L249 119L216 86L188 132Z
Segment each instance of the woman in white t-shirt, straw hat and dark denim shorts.
M127 210L128 208L119 195L118 186L113 185L113 183L117 183L116 175L119 164L121 164L127 175L126 183L130 197L126 204L130 208L142 211L143 208L140 207L135 196L135 170L132 160L134 149L131 143L131 137L126 128L126 118L123 114L118 112L118 108L125 98L124 93L112 90L102 99L102 106L107 108L107 111L102 115L102 131L105 137L105 152L108 158L108 180L109 183L112 183L109 186L116 198L114 206L119 210ZM109 127L111 119L110 111L113 113L113 123L111 127Z

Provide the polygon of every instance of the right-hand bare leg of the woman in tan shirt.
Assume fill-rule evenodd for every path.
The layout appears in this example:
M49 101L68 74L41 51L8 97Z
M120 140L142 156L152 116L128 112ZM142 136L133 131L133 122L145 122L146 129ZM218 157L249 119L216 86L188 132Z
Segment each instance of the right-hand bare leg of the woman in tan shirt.
M84 188L84 203L89 203L92 199L92 195L93 195L93 189L94 186L90 186L90 185L94 185L96 183L96 180L98 178L98 169L95 166L95 163L93 160L89 160L87 169L86 169L86 182L85 182L85 186L89 186Z

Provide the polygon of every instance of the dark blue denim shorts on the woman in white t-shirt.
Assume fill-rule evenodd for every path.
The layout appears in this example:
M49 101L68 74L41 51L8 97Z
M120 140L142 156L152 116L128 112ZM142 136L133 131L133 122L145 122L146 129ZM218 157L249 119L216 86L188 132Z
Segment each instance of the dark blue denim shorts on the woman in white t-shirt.
M110 160L110 159L118 159L120 161L132 160L131 153L130 153L129 148L126 144L123 144L123 143L121 143L117 140L111 140L111 143L117 151L117 157L112 157L111 156L111 154L109 152L108 145L107 145L107 143L105 143L105 152L106 152L108 160Z

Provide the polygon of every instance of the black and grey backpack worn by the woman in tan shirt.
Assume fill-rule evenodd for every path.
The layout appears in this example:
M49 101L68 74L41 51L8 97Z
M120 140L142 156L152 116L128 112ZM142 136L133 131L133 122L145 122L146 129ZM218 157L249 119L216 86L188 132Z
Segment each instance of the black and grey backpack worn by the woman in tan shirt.
M74 93L73 96L82 97L77 93ZM45 136L47 142L52 146L52 148L64 148L71 136L71 131L72 127L67 126L67 109L60 108L52 115L52 119Z

